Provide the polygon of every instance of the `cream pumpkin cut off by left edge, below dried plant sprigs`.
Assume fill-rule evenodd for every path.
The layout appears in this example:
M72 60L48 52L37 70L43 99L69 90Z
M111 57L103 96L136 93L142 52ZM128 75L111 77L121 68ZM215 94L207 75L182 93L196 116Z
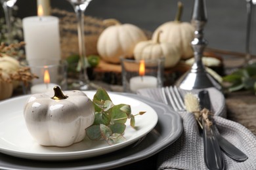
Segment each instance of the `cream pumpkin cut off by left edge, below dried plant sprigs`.
M0 100L8 99L12 95L13 86L10 77L0 70Z

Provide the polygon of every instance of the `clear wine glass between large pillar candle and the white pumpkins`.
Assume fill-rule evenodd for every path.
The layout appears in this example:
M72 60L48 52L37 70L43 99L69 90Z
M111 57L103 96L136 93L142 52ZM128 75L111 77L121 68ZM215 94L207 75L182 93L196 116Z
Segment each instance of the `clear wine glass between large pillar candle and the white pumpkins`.
M86 52L85 52L85 33L84 33L84 12L87 9L87 6L92 0L68 0L72 6L74 7L75 14L77 16L77 35L78 35L78 45L79 45L79 56L80 56L80 64L81 71L79 75L79 80L73 83L73 87L79 90L88 90L89 86L89 78L87 75L86 68Z

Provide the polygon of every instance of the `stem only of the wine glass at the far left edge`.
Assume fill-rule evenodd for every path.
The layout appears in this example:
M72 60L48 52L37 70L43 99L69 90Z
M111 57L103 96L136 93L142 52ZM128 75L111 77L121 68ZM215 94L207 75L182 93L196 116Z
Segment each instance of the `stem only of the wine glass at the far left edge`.
M3 10L5 12L5 22L7 25L7 43L11 44L12 42L12 25L11 25L11 16L12 16L12 9L7 6L7 2L3 3Z

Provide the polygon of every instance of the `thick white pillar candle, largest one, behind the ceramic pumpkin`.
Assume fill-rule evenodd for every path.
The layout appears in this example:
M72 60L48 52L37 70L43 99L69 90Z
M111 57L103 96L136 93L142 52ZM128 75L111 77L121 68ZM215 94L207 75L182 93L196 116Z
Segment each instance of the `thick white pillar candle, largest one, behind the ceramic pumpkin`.
M27 59L60 59L60 32L55 16L23 19Z

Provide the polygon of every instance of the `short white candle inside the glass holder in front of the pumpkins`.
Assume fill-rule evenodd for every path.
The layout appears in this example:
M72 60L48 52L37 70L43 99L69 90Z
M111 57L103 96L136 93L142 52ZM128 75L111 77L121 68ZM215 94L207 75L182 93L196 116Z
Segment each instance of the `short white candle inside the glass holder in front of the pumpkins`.
M136 92L142 88L156 88L158 79L154 76L135 76L130 79L130 90Z

